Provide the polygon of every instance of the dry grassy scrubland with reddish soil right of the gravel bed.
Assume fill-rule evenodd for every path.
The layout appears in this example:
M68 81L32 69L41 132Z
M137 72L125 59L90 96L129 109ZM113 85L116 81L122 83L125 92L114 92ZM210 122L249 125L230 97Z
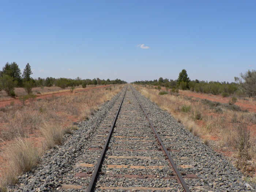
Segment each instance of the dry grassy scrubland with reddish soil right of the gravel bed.
M218 147L233 153L234 163L248 181L255 182L256 139L249 126L256 124L256 114L239 110L233 104L221 104L208 100L189 98L179 94L159 95L148 86L136 87L145 97L169 112L195 136L201 136L209 144L212 136L218 138Z

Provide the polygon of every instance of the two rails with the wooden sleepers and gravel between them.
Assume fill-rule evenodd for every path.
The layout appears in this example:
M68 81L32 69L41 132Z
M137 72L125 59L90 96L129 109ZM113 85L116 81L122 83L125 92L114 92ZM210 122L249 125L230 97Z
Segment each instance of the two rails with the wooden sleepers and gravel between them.
M97 163L80 163L78 166L90 169L77 173L76 177L91 178L87 192L188 192L188 186L133 89L126 87L120 103L116 103L113 113L101 124L85 151L88 157L99 156Z

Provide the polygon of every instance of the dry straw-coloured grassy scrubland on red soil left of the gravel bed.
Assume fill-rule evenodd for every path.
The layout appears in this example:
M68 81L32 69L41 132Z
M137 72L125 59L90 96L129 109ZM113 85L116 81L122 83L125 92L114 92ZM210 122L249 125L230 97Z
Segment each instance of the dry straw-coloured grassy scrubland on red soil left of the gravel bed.
M74 91L67 96L30 99L25 105L0 108L0 191L14 183L18 174L40 163L40 154L61 144L64 134L72 134L78 128L74 121L90 118L101 103L121 89L112 86Z

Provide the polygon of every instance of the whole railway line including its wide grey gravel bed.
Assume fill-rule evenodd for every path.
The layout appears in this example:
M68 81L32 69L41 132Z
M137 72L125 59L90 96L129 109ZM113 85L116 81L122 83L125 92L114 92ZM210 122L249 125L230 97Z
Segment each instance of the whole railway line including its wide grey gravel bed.
M247 191L225 158L130 85L79 127L8 191Z

